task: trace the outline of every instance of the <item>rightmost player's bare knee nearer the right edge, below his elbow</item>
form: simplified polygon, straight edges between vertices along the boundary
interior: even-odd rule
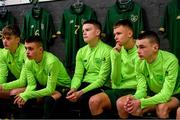
[[[168,106],[165,103],[157,105],[156,113],[159,118],[168,118],[169,117]]]

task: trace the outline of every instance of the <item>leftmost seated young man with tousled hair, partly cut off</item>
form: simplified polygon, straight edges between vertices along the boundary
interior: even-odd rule
[[[24,91],[24,88],[10,90],[7,84],[20,79],[20,73],[26,59],[25,48],[20,43],[20,30],[17,26],[8,25],[3,28],[2,42],[4,48],[0,55],[0,109],[2,110],[0,118],[6,117],[5,114],[12,106],[10,96]]]

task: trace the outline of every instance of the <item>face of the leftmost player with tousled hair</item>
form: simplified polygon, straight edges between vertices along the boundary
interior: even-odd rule
[[[2,38],[4,48],[13,50],[19,44],[19,38],[15,35],[5,35]]]

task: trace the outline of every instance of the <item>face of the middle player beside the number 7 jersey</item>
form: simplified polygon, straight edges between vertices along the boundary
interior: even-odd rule
[[[90,43],[93,40],[99,38],[100,30],[93,24],[84,24],[83,25],[83,38],[84,42]]]

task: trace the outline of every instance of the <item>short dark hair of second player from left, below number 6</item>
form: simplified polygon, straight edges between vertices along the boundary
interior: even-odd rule
[[[42,38],[40,36],[30,36],[25,40],[26,43],[38,43],[42,47]]]

